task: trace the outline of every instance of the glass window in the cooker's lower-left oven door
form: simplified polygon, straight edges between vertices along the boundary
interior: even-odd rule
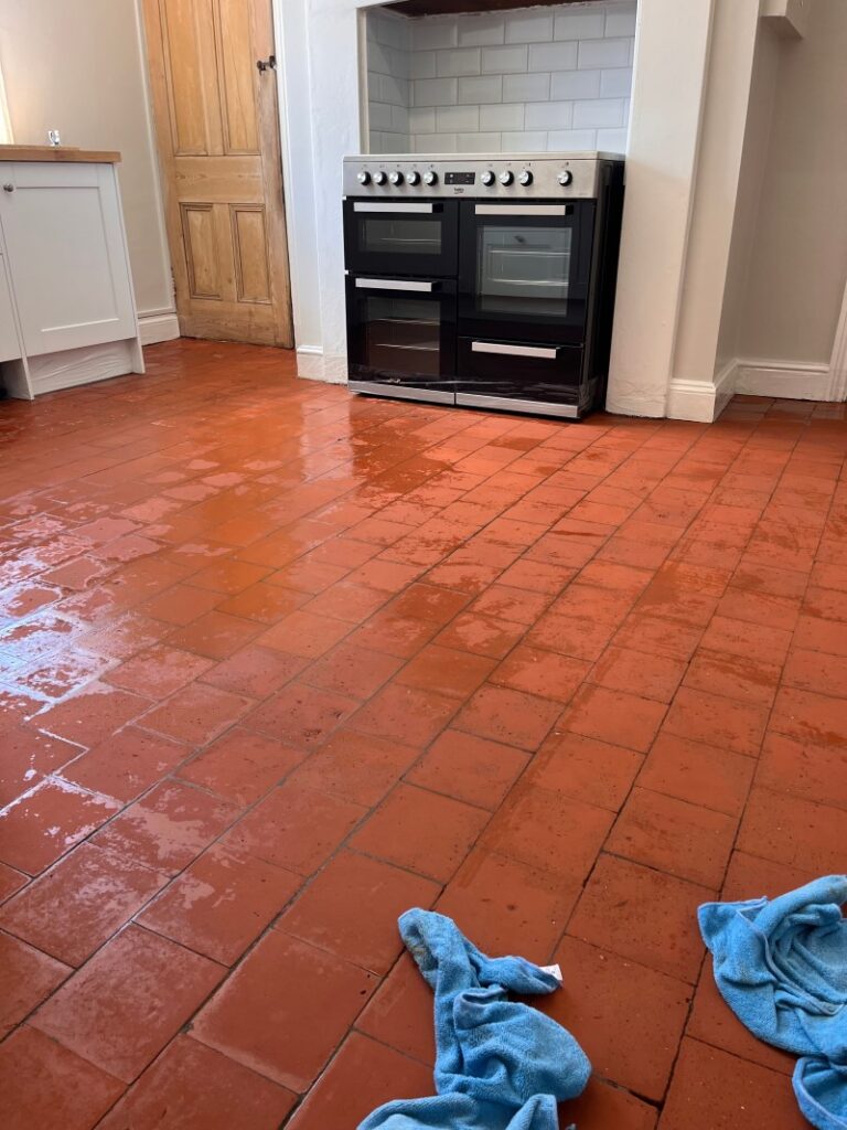
[[[391,296],[365,299],[367,364],[390,373],[438,376],[440,304]]]

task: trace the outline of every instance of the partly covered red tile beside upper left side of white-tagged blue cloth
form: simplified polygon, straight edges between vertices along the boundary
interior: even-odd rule
[[[400,956],[356,1027],[421,1063],[435,1063],[433,990],[408,953]]]

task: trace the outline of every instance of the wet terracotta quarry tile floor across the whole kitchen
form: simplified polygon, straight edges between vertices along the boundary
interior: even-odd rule
[[[695,912],[844,870],[844,406],[567,425],[148,360],[0,406],[5,1130],[429,1093],[416,904],[561,963],[562,1124],[801,1130]]]

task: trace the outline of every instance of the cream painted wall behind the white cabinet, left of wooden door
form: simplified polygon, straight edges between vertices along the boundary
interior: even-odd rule
[[[0,66],[15,140],[119,149],[126,236],[146,340],[176,328],[142,25],[137,0],[2,0]]]

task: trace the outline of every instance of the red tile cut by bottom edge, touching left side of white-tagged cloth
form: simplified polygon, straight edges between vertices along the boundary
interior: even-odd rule
[[[288,1125],[290,1130],[356,1130],[383,1103],[431,1093],[430,1068],[352,1032]]]

